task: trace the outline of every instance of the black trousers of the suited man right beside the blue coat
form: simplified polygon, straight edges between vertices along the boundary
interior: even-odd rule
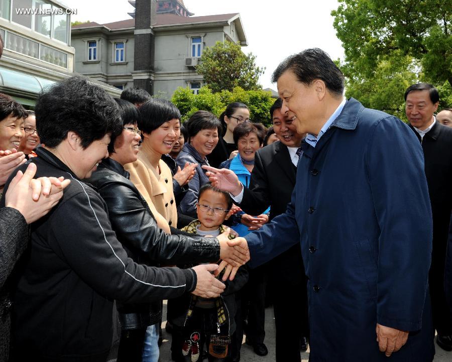
[[[304,282],[272,283],[276,327],[276,362],[300,362],[302,337],[309,337],[307,291]]]

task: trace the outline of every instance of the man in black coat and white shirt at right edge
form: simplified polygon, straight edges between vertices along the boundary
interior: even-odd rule
[[[452,211],[452,129],[433,115],[439,94],[428,83],[411,85],[405,92],[405,113],[424,151],[425,175],[433,215],[433,249],[429,286],[436,343],[452,350],[452,321],[444,294],[444,263]]]

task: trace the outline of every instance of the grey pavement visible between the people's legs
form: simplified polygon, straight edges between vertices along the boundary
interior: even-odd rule
[[[163,302],[163,320],[166,323],[166,300]],[[163,324],[164,325],[164,324]],[[273,316],[273,308],[265,310],[265,344],[268,347],[268,354],[264,357],[258,356],[253,352],[253,348],[245,344],[245,338],[241,349],[241,362],[266,361],[273,362],[275,358],[275,318]],[[172,362],[171,359],[171,335],[163,329],[163,344],[160,347],[160,362]],[[439,348],[435,343],[436,355],[434,362],[452,362],[452,352],[446,352]],[[301,353],[302,362],[308,362],[309,349]],[[388,361],[391,359],[389,358]],[[207,359],[205,360],[207,361]]]

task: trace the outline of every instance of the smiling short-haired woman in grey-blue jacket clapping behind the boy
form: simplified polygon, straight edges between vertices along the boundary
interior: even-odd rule
[[[206,156],[218,143],[221,123],[214,114],[206,110],[198,110],[187,120],[185,127],[188,132],[188,143],[184,144],[176,162],[181,168],[186,162],[195,163],[197,166],[194,177],[188,182],[188,192],[180,203],[180,209],[182,213],[196,218],[199,189],[209,182],[201,166],[209,166]]]

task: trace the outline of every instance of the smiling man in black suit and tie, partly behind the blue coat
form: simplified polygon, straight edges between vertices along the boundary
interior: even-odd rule
[[[282,100],[278,98],[270,108],[273,129],[280,141],[256,153],[250,187],[244,188],[243,197],[242,194],[234,197],[236,203],[250,215],[260,215],[270,206],[269,220],[284,213],[290,202],[295,186],[297,150],[304,137],[296,132],[293,119],[281,113],[281,106]],[[294,244],[269,265],[277,362],[300,362],[300,344],[303,350],[307,348],[306,277],[300,245]]]

